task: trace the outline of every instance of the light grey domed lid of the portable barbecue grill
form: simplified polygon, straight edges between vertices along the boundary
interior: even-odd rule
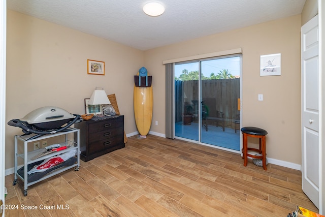
[[[55,106],[45,106],[29,112],[20,120],[33,124],[71,118],[74,118],[74,115],[64,109]]]

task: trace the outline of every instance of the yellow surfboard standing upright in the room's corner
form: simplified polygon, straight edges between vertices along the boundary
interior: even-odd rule
[[[137,73],[139,75],[139,73]],[[149,73],[148,73],[149,75]],[[136,125],[141,136],[149,133],[152,121],[153,95],[152,86],[137,87],[134,85],[133,105]]]

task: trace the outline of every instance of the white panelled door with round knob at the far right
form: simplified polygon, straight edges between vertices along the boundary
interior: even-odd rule
[[[319,208],[318,15],[301,27],[302,189]]]

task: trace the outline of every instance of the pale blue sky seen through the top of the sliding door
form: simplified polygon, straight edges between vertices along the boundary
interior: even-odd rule
[[[240,57],[228,57],[220,59],[204,60],[202,63],[202,73],[206,77],[210,77],[211,73],[217,75],[219,71],[228,69],[233,76],[240,76]],[[199,63],[187,63],[175,65],[175,77],[179,77],[182,71],[186,69],[188,72],[199,71]]]

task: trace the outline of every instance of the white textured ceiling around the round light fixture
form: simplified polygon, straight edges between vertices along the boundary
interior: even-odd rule
[[[148,50],[300,14],[306,0],[8,0],[7,8]],[[142,7],[159,2],[158,17]]]

